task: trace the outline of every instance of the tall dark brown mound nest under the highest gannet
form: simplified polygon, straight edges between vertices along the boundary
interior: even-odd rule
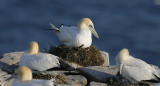
[[[81,47],[66,47],[64,45],[54,47],[52,46],[49,53],[54,54],[63,60],[77,63],[78,65],[100,66],[104,63],[101,53],[95,46],[88,48]]]

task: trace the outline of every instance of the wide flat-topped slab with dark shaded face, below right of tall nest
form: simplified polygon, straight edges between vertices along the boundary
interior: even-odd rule
[[[115,77],[118,72],[116,66],[90,66],[79,68],[78,70],[87,80],[96,82],[107,82],[111,77]]]

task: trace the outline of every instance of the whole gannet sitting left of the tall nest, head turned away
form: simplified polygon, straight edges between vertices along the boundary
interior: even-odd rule
[[[59,67],[59,60],[57,56],[40,53],[37,42],[29,44],[29,50],[25,51],[20,58],[19,65],[27,66],[32,70],[44,71],[53,67]]]

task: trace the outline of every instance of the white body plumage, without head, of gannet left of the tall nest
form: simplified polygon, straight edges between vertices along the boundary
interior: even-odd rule
[[[20,66],[27,66],[30,69],[43,71],[53,67],[59,67],[59,60],[57,56],[38,53],[36,55],[27,55],[26,53],[20,59]]]

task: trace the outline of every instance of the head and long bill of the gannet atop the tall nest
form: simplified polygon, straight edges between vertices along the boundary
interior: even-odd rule
[[[78,22],[77,26],[79,27],[79,29],[89,29],[99,39],[99,36],[94,29],[93,22],[89,18],[82,18]]]

